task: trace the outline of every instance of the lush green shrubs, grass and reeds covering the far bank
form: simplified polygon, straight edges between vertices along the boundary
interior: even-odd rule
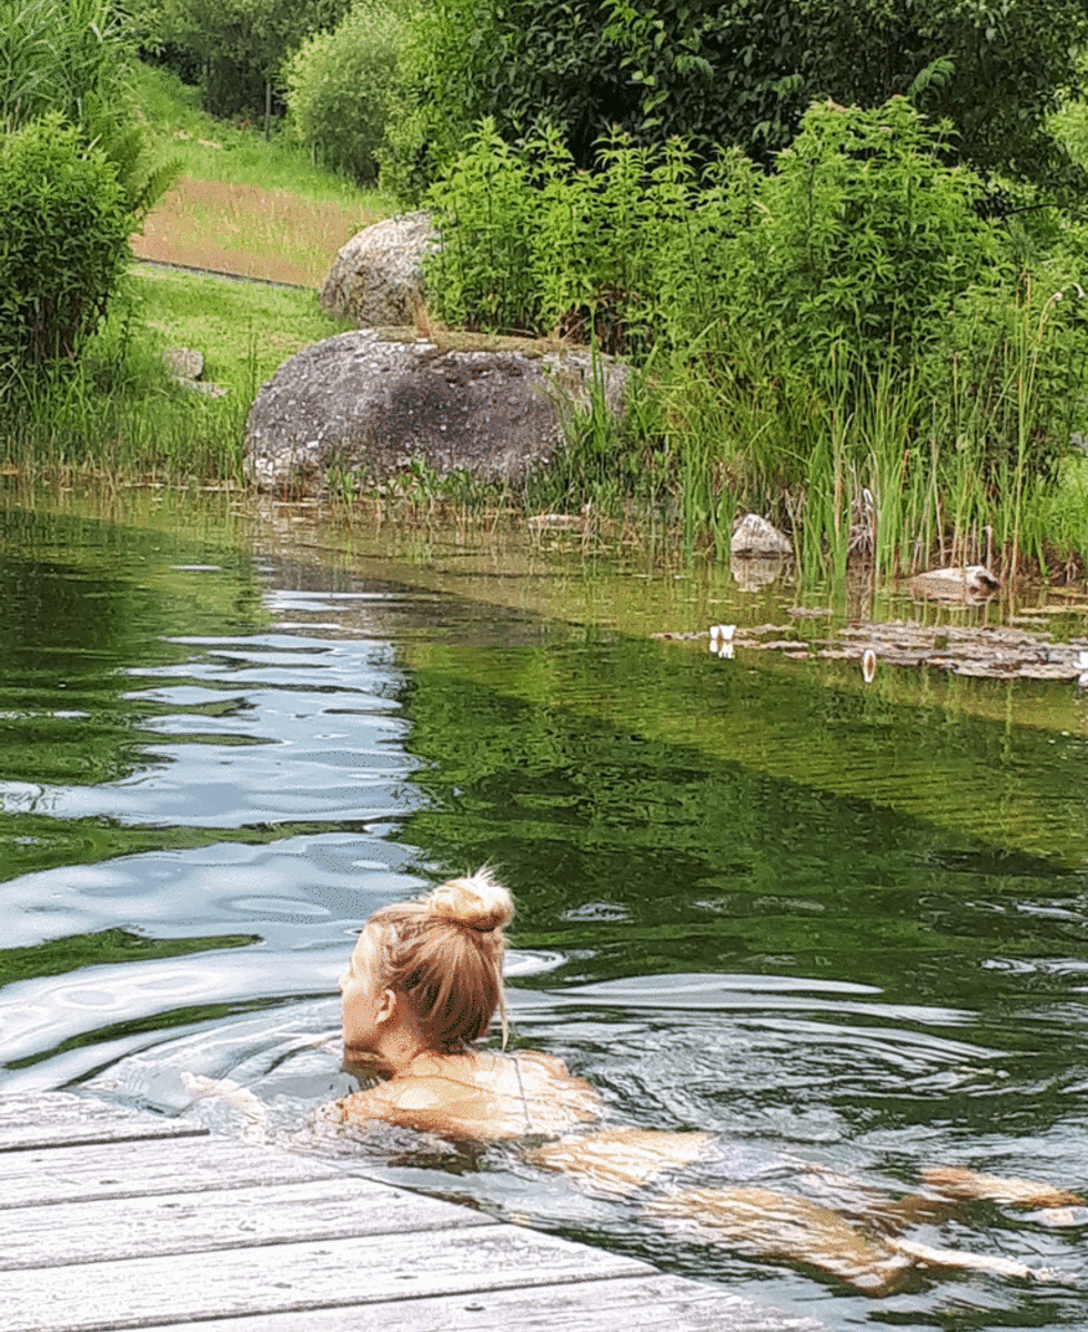
[[[332,329],[300,305],[269,337],[250,306],[248,350],[224,334],[232,396],[194,401],[125,274],[165,157],[189,176],[246,157],[253,188],[314,192],[309,176],[328,200],[380,184],[372,216],[430,208],[427,318],[629,360],[623,420],[582,413],[547,473],[490,502],[720,553],[751,509],[820,577],[1083,573],[1076,0],[779,5],[774,43],[750,0],[573,0],[562,21],[538,0],[4,8],[21,69],[0,88],[0,208],[24,237],[0,272],[13,464],[240,480],[266,364]],[[156,137],[178,79],[233,121]]]

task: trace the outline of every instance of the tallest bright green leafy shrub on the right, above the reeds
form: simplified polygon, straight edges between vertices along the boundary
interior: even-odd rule
[[[948,135],[902,97],[872,112],[826,103],[759,181],[740,298],[810,373],[835,344],[911,364],[995,272],[981,184],[946,165]]]

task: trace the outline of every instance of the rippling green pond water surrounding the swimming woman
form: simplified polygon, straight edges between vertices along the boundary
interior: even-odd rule
[[[931,1163],[1088,1189],[1075,686],[723,661],[651,631],[796,591],[308,514],[0,505],[0,1088],[241,1132],[192,1098],[229,1076],[292,1134],[353,1086],[329,1038],[361,923],[487,862],[518,902],[514,1044],[613,1122],[894,1193]],[[1088,1328],[1084,1224],[972,1207],[920,1237],[1047,1271],[870,1300],[502,1152],[297,1146],[830,1328]]]

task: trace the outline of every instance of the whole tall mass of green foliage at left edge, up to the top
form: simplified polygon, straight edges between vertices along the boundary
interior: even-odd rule
[[[169,172],[131,99],[111,0],[0,0],[0,369],[72,360]]]

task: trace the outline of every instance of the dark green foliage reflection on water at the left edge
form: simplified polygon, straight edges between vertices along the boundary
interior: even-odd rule
[[[49,791],[123,781],[156,761],[161,705],[133,669],[174,665],[178,635],[262,618],[248,559],[193,578],[206,551],[173,534],[79,515],[0,507],[0,879],[164,844],[189,830],[51,817]],[[221,558],[221,557],[220,557]]]

